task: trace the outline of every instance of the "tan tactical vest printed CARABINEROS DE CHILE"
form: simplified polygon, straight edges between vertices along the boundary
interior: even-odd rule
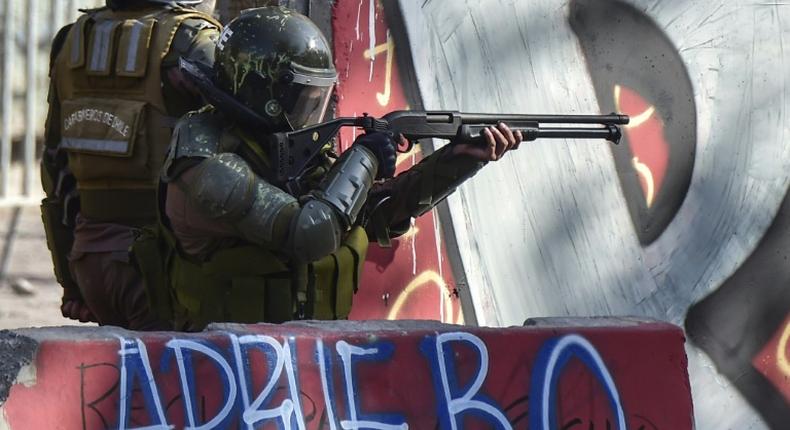
[[[77,178],[83,216],[156,221],[159,170],[175,118],[162,96],[161,65],[189,9],[97,9],[72,26],[55,61],[60,147]]]

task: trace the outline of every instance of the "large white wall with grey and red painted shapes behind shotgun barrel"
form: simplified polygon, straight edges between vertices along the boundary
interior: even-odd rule
[[[522,145],[449,199],[476,320],[685,322],[697,427],[785,428],[790,8],[398,3],[428,109],[632,118],[619,146]]]

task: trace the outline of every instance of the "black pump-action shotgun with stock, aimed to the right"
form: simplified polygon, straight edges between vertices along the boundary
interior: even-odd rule
[[[514,132],[521,131],[524,141],[548,139],[606,139],[620,142],[620,125],[628,124],[628,116],[610,115],[518,115],[478,114],[455,111],[390,112],[381,118],[364,114],[360,117],[336,118],[301,130],[271,135],[272,158],[277,180],[290,191],[310,161],[342,127],[359,127],[369,132],[402,134],[409,148],[417,139],[449,139],[451,144],[483,144],[483,129],[504,122]],[[548,126],[545,126],[547,124]]]

